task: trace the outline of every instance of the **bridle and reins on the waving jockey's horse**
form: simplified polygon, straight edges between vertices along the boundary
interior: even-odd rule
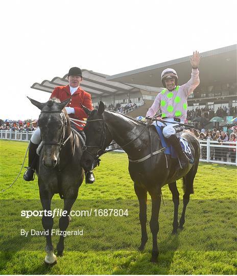
[[[103,117],[103,116],[102,116]],[[138,136],[136,136],[132,141],[126,143],[125,145],[121,146],[121,147],[117,147],[115,149],[109,149],[109,150],[105,150],[105,140],[106,140],[106,136],[105,136],[105,131],[106,131],[106,127],[111,135],[111,132],[108,128],[108,125],[106,124],[105,122],[105,119],[95,119],[95,120],[87,120],[86,122],[95,122],[95,121],[101,121],[103,122],[103,135],[101,137],[101,142],[100,142],[100,146],[83,146],[82,148],[82,151],[84,152],[87,152],[90,156],[92,156],[95,160],[98,159],[102,154],[106,153],[106,152],[109,152],[109,151],[113,151],[113,150],[116,150],[116,149],[120,149],[120,148],[124,148],[124,147],[127,147],[128,145],[130,145],[132,142],[134,142],[141,134],[143,134],[143,132],[148,128],[148,124],[144,127],[143,130],[141,130],[141,132],[138,134]],[[112,137],[112,135],[111,135]],[[112,146],[116,143],[112,143],[110,144],[109,146]],[[99,148],[99,150],[97,151],[96,155],[93,155],[92,153],[90,153],[87,149],[88,148]],[[101,153],[99,153],[101,151]]]

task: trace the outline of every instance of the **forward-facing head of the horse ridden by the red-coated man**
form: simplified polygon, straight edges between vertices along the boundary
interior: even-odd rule
[[[70,99],[60,102],[58,99],[53,98],[46,103],[40,103],[30,98],[29,100],[41,110],[38,126],[44,145],[43,165],[47,168],[53,168],[57,164],[66,126],[67,124],[69,125],[69,117],[63,108]]]

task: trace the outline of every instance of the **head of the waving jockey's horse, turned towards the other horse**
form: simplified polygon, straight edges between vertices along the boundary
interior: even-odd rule
[[[103,102],[100,102],[98,110],[90,111],[85,108],[84,110],[89,116],[84,127],[86,145],[83,147],[81,166],[88,171],[97,164],[98,158],[105,152],[106,147],[112,141],[112,137],[103,116],[105,110]]]

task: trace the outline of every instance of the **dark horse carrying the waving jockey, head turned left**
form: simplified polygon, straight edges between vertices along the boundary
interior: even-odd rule
[[[94,159],[106,152],[106,147],[114,140],[120,145],[129,158],[129,173],[134,182],[134,190],[139,201],[139,219],[141,224],[141,244],[139,250],[143,250],[147,240],[147,192],[152,200],[152,215],[150,228],[152,232],[153,248],[152,262],[158,257],[157,234],[159,231],[159,209],[161,201],[161,187],[168,184],[172,192],[174,202],[173,234],[178,227],[183,228],[184,215],[189,195],[194,193],[194,177],[199,163],[200,148],[196,137],[186,131],[182,136],[191,147],[194,164],[188,164],[185,168],[177,170],[177,160],[165,155],[159,136],[153,125],[146,125],[124,116],[123,114],[104,111],[105,106],[100,102],[98,110],[92,112],[84,108],[89,114],[84,132],[86,134],[86,146],[83,149],[81,164],[85,170],[91,169]],[[183,211],[178,222],[179,192],[176,180],[183,178]]]

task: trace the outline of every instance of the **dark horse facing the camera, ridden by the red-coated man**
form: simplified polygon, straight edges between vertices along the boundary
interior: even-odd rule
[[[41,110],[38,125],[43,147],[36,169],[41,204],[43,210],[50,211],[52,197],[59,193],[64,200],[65,211],[64,216],[59,219],[59,228],[60,231],[66,231],[70,210],[77,199],[78,189],[84,178],[84,170],[80,165],[82,156],[80,137],[77,131],[71,129],[69,117],[64,109],[70,99],[62,103],[55,98],[46,103],[39,103],[32,99],[30,101]],[[45,233],[49,233],[45,235],[47,255],[44,259],[48,264],[57,261],[51,238],[53,223],[52,216],[42,217]],[[58,256],[62,256],[63,249],[64,236],[60,235],[57,244]]]

